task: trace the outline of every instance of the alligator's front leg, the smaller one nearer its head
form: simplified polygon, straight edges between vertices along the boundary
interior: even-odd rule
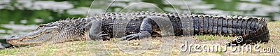
[[[105,38],[104,36],[108,36],[108,34],[102,34],[102,21],[100,20],[93,20],[90,22],[90,32],[89,32],[89,36],[92,40],[99,40],[99,39],[103,39],[103,40],[109,40],[109,38]]]

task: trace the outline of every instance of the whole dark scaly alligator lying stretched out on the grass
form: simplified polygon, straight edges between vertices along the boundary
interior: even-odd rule
[[[109,40],[114,37],[132,40],[158,35],[160,33],[157,31],[161,31],[162,27],[174,29],[171,36],[212,34],[240,36],[244,40],[241,43],[269,41],[267,20],[264,18],[160,12],[104,13],[85,18],[67,18],[41,24],[35,31],[21,36],[10,36],[6,40],[12,45],[85,41],[87,38]]]

